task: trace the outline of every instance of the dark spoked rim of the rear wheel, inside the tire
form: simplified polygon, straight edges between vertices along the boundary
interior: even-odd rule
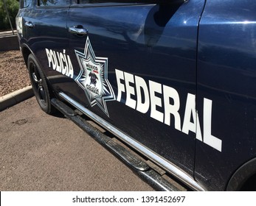
[[[37,94],[38,100],[46,105],[46,92],[43,84],[43,80],[41,78],[41,75],[38,72],[38,69],[34,63],[31,65],[31,76],[32,76],[32,82],[35,88],[35,92]]]

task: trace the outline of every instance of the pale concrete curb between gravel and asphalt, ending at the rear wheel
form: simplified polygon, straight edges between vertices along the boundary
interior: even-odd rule
[[[20,90],[16,90],[12,93],[0,97],[0,111],[5,110],[8,107],[11,107],[19,102],[29,99],[34,96],[32,86],[27,86]]]

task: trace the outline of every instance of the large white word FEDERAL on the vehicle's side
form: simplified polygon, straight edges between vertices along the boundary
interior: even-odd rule
[[[148,80],[147,84],[142,77],[118,69],[115,71],[118,102],[121,102],[122,93],[124,93],[126,97],[123,96],[122,102],[128,107],[136,109],[140,113],[148,113],[150,110],[151,118],[172,126],[186,135],[193,132],[198,141],[207,143],[221,152],[222,141],[212,135],[212,100],[204,98],[204,134],[202,135],[198,111],[196,110],[196,95],[187,93],[181,130],[180,98],[176,89],[151,80]],[[134,96],[133,99],[132,96]],[[172,116],[173,122],[171,122]]]

